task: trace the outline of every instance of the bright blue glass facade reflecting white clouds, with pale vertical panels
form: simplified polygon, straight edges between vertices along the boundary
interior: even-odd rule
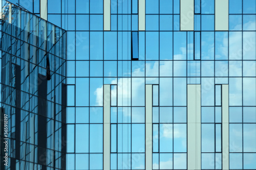
[[[67,169],[256,169],[255,0],[12,0],[67,30]]]

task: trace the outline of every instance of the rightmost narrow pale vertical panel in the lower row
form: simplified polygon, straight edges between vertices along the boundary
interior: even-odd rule
[[[222,169],[229,169],[228,84],[222,85]]]

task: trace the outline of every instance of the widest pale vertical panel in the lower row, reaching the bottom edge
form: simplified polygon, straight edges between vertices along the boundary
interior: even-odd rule
[[[187,169],[201,169],[201,85],[187,85]]]

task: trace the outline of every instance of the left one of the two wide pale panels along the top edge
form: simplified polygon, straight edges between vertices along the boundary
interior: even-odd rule
[[[194,0],[180,0],[180,31],[194,31]]]

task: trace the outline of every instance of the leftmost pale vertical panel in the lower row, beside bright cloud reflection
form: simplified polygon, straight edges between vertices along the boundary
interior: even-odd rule
[[[110,170],[110,85],[103,88],[103,169]]]

